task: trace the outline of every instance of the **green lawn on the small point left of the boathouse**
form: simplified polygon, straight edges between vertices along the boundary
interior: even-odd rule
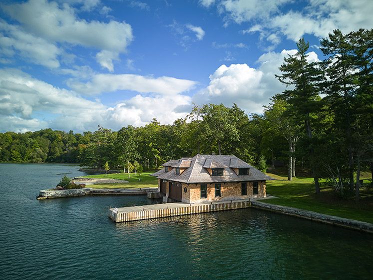
[[[150,176],[153,172],[143,172],[141,176],[139,174],[130,173],[115,173],[115,174],[99,174],[99,175],[88,175],[85,178],[112,178],[119,180],[126,180],[128,183],[105,183],[105,184],[92,184],[89,187],[93,188],[140,188],[140,187],[157,187],[158,179],[157,177]],[[139,178],[141,179],[139,181]]]

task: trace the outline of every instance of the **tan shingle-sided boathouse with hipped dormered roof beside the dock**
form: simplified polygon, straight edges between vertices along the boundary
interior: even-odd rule
[[[266,197],[266,180],[273,179],[235,155],[197,154],[162,166],[152,175],[164,202]]]

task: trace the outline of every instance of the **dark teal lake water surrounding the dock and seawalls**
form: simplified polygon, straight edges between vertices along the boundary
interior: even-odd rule
[[[373,234],[257,209],[128,223],[146,196],[36,200],[64,164],[0,164],[0,279],[372,279]]]

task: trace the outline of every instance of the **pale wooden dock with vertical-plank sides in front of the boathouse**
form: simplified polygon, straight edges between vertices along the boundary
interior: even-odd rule
[[[249,207],[251,207],[250,199],[191,204],[174,202],[122,208],[110,208],[109,217],[115,222],[124,222]]]

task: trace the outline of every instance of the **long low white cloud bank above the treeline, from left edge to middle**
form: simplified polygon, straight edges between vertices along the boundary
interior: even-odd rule
[[[144,125],[156,117],[172,123],[186,115],[177,108],[190,105],[191,97],[137,94],[108,107],[74,91],[57,88],[16,69],[0,69],[0,131],[37,130],[45,127],[75,131]],[[47,115],[47,119],[37,116]]]

